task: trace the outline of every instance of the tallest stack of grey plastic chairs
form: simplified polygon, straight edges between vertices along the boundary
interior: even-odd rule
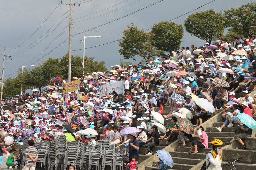
[[[55,166],[55,170],[57,170],[58,165],[64,165],[66,150],[67,143],[65,135],[58,135],[54,141],[50,141],[48,152],[48,170],[52,170],[53,166]]]

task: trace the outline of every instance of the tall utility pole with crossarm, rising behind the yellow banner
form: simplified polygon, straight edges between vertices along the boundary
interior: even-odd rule
[[[61,4],[62,3],[61,1]],[[70,14],[69,14],[69,39],[68,39],[68,81],[70,82],[71,79],[71,28],[72,28],[72,6],[76,6],[76,3],[74,5],[72,5],[72,0],[70,0],[70,4],[66,4],[66,5],[70,5]],[[78,6],[76,7],[80,7],[80,4],[78,4]]]

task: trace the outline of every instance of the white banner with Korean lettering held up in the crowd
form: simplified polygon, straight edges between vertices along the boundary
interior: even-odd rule
[[[110,83],[110,84],[105,84],[105,85],[101,85],[101,95],[102,96],[106,96],[105,94],[105,88],[108,87],[107,93],[111,93],[113,91],[116,92],[116,94],[121,94],[124,91],[124,85],[122,81],[119,82],[114,82],[114,83]]]

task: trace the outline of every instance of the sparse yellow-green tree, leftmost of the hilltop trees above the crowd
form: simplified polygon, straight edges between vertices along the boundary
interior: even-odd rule
[[[131,27],[127,25],[127,29],[123,32],[123,39],[119,40],[119,46],[122,47],[118,51],[123,55],[124,59],[135,59],[139,55],[144,60],[149,61],[154,56],[165,53],[163,50],[157,50],[150,42],[150,34],[143,30],[139,30],[131,23]]]

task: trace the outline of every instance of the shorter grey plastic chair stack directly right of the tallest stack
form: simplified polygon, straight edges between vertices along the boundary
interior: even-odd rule
[[[68,165],[76,166],[77,158],[81,150],[82,150],[81,142],[74,143],[74,145],[71,145],[71,146],[68,145],[68,149],[67,151],[65,151],[63,169],[66,169]]]

